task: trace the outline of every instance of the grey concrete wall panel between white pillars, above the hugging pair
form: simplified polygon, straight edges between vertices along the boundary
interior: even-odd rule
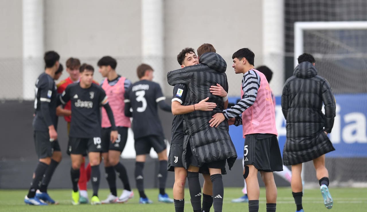
[[[242,76],[234,73],[232,54],[249,47],[255,52],[255,65],[262,63],[262,1],[172,0],[164,7],[166,70],[180,67],[177,54],[183,48],[197,50],[211,43],[227,62],[229,95],[240,96]]]

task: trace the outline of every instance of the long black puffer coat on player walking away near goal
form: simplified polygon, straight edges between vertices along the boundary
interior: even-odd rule
[[[321,112],[323,103],[325,114]],[[307,162],[335,150],[324,133],[330,133],[334,125],[334,95],[312,63],[302,62],[295,67],[283,87],[281,109],[287,121],[284,165]]]

